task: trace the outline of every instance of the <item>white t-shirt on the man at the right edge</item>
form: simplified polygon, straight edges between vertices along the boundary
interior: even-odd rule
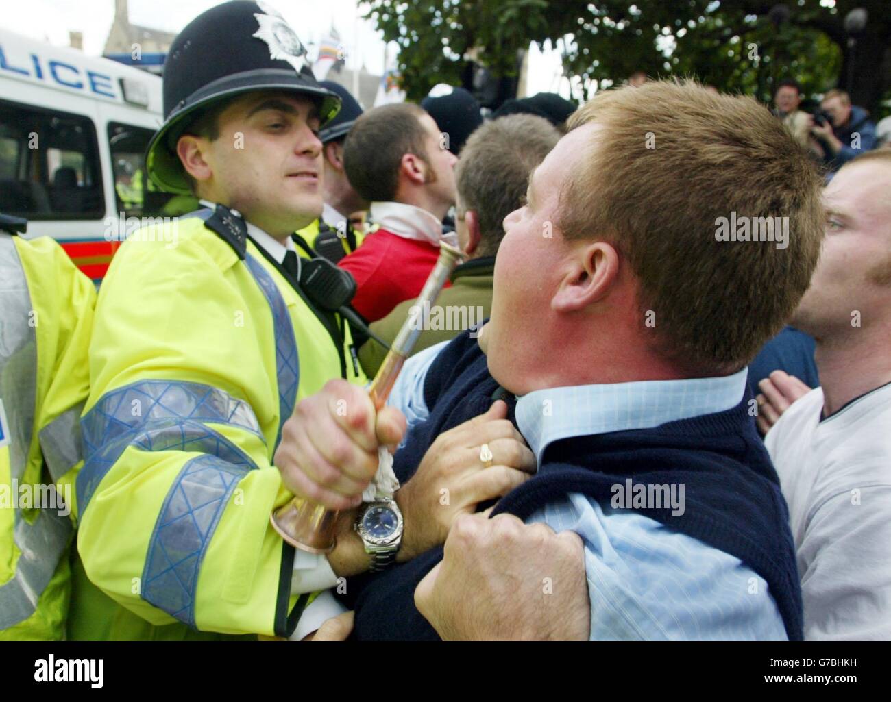
[[[765,445],[789,503],[805,640],[891,640],[891,385],[820,420],[816,388]]]

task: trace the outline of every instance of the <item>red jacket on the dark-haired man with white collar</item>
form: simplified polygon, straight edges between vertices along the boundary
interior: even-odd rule
[[[338,265],[356,278],[358,290],[352,305],[366,322],[376,322],[403,300],[421,294],[438,257],[438,247],[428,241],[405,239],[379,229]]]

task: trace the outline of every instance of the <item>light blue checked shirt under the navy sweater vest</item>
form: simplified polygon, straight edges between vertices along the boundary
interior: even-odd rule
[[[447,343],[447,342],[446,342]],[[405,363],[390,404],[409,426],[426,420],[427,370],[445,344]],[[536,458],[561,438],[657,427],[740,403],[747,371],[724,378],[536,390],[517,401],[519,430]],[[785,641],[767,583],[740,559],[654,519],[569,494],[527,518],[584,541],[591,639]]]

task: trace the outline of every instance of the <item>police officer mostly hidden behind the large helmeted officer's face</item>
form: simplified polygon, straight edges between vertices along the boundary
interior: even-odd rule
[[[356,250],[366,232],[356,231],[349,221],[355,212],[368,209],[368,202],[350,184],[343,161],[343,143],[349,130],[362,115],[362,108],[356,98],[345,88],[331,80],[323,80],[321,86],[340,97],[340,111],[337,116],[319,131],[323,144],[324,164],[324,205],[322,216],[296,234],[298,246],[305,255],[315,253],[337,263],[342,257]]]

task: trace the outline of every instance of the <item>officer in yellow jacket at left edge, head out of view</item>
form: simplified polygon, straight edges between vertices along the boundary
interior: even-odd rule
[[[60,640],[95,289],[0,215],[0,640]]]

